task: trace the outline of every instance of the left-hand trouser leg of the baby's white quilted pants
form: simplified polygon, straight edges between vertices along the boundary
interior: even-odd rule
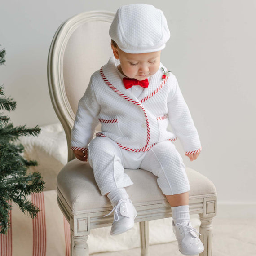
[[[88,147],[88,161],[102,195],[133,184],[124,173],[122,154],[115,141],[107,137],[93,139]]]

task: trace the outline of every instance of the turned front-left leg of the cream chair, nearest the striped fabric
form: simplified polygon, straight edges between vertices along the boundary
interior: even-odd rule
[[[71,256],[89,256],[88,235],[74,236],[71,230]]]

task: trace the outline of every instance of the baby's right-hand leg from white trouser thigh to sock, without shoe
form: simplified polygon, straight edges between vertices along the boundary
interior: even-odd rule
[[[144,157],[141,168],[158,176],[158,185],[172,206],[174,222],[190,221],[189,180],[182,158],[173,143],[163,141],[151,148]]]

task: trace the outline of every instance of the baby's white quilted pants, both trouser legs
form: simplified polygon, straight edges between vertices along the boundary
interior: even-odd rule
[[[146,152],[130,152],[110,138],[96,137],[89,144],[88,161],[102,195],[133,184],[124,168],[152,172],[165,195],[190,190],[185,165],[171,141],[159,142]]]

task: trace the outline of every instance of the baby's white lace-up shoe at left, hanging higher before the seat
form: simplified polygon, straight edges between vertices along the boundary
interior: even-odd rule
[[[110,215],[113,211],[115,212],[114,221],[110,231],[111,235],[118,235],[132,229],[137,212],[130,199],[120,199],[113,210],[105,216]]]

